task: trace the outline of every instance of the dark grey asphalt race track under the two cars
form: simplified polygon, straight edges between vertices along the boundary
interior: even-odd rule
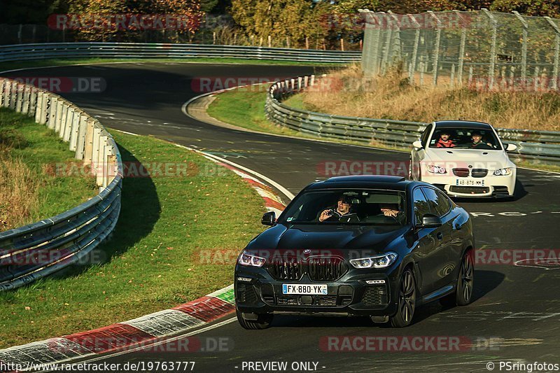
[[[62,96],[96,115],[106,127],[151,134],[224,157],[272,178],[294,194],[322,177],[321,162],[408,160],[405,153],[225,129],[198,122],[181,112],[185,101],[200,94],[191,86],[195,77],[287,77],[314,71],[311,66],[127,63],[4,75],[102,77],[106,80],[103,93]],[[493,253],[502,249],[560,251],[560,174],[519,169],[518,181],[513,201],[458,202],[473,214],[477,248],[491,249]],[[194,361],[194,372],[272,371],[262,370],[262,366],[249,369],[247,363],[255,361],[284,361],[288,371],[292,363],[311,362],[307,370],[320,372],[488,372],[486,363],[490,361],[496,363],[495,371],[499,371],[500,360],[560,363],[560,263],[486,263],[484,258],[477,260],[472,304],[444,309],[435,302],[419,309],[409,328],[372,325],[368,318],[284,316],[276,317],[272,328],[249,331],[233,321],[207,327],[193,336],[207,346],[207,351],[135,352],[103,360]],[[459,351],[347,352],[332,351],[333,347],[325,344],[329,336],[460,337],[464,343]],[[227,351],[211,348],[209,343],[214,338],[225,340],[227,348],[223,350]],[[316,367],[313,363],[317,363]],[[294,367],[306,370],[304,365]]]

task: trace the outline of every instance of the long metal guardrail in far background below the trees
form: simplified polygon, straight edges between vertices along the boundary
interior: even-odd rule
[[[361,52],[165,43],[41,43],[0,46],[0,62],[49,58],[177,58],[220,57],[299,62],[359,62]]]

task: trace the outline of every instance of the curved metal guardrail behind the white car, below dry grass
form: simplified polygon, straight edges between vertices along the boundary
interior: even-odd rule
[[[298,76],[274,83],[268,91],[265,112],[269,120],[325,139],[344,139],[381,144],[400,150],[410,150],[427,123],[372,118],[346,117],[300,110],[282,104],[282,100],[304,88],[316,85],[318,78]],[[560,165],[560,132],[496,128],[500,138],[517,145],[510,153],[512,160],[527,160],[533,164]]]

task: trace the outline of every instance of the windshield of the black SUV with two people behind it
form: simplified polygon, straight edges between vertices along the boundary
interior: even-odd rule
[[[404,192],[317,190],[298,196],[282,213],[283,224],[405,225]]]

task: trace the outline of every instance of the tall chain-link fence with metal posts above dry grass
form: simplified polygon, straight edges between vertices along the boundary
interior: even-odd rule
[[[400,66],[416,85],[559,90],[560,20],[488,10],[360,11],[367,75]]]

